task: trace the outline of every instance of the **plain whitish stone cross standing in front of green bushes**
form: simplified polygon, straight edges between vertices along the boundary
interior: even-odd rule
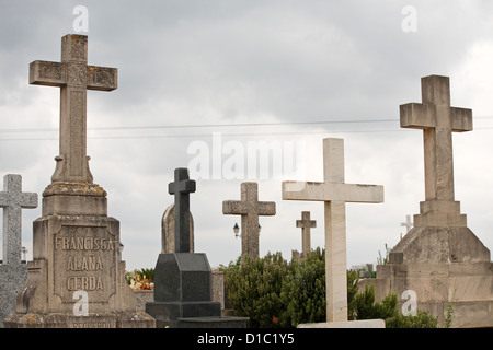
[[[346,322],[346,202],[382,202],[383,187],[344,183],[342,139],[323,140],[323,183],[283,182],[283,199],[324,202],[326,320]]]

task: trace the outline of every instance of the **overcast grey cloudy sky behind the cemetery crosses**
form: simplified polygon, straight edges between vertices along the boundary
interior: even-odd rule
[[[88,32],[77,32],[77,5]],[[473,110],[474,130],[454,135],[456,200],[493,248],[492,1],[0,0],[0,175],[21,174],[23,190],[39,194],[23,210],[28,258],[59,125],[59,89],[30,85],[28,65],[59,61],[70,33],[89,36],[90,65],[118,69],[117,90],[88,93],[88,154],[128,270],[154,267],[173,171],[206,151],[209,176],[191,168],[191,209],[195,252],[211,267],[241,254],[240,217],[223,215],[222,200],[240,199],[244,180],[277,206],[260,219],[262,256],[301,249],[306,210],[312,247],[323,246],[323,203],[283,201],[280,182],[322,180],[330,137],[344,139],[346,183],[385,186],[385,203],[346,206],[348,267],[376,262],[424,200],[423,135],[399,127],[399,105],[421,102],[429,74],[450,77],[452,106]],[[231,172],[228,152],[252,159],[262,141],[280,147],[267,171],[280,162],[282,174],[249,176],[248,162]]]

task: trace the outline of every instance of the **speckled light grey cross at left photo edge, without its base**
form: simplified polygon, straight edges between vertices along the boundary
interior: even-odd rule
[[[36,208],[37,194],[22,191],[21,175],[3,176],[0,208],[3,208],[3,264],[21,264],[22,209]]]

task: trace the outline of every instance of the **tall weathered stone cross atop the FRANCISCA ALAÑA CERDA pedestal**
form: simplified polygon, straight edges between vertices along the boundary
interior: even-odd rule
[[[92,183],[87,155],[87,90],[117,88],[117,69],[88,66],[88,37],[61,38],[61,62],[34,61],[30,84],[60,88],[60,154],[51,182]]]

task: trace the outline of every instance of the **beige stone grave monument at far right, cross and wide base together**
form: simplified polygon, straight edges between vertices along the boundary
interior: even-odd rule
[[[444,326],[454,300],[452,327],[493,326],[493,262],[490,250],[467,226],[455,199],[452,132],[472,130],[472,110],[450,106],[447,77],[422,78],[422,103],[400,106],[401,127],[423,129],[425,201],[414,228],[377,266],[376,299],[389,292],[416,293],[417,310],[426,310]],[[402,304],[405,301],[400,301]]]

